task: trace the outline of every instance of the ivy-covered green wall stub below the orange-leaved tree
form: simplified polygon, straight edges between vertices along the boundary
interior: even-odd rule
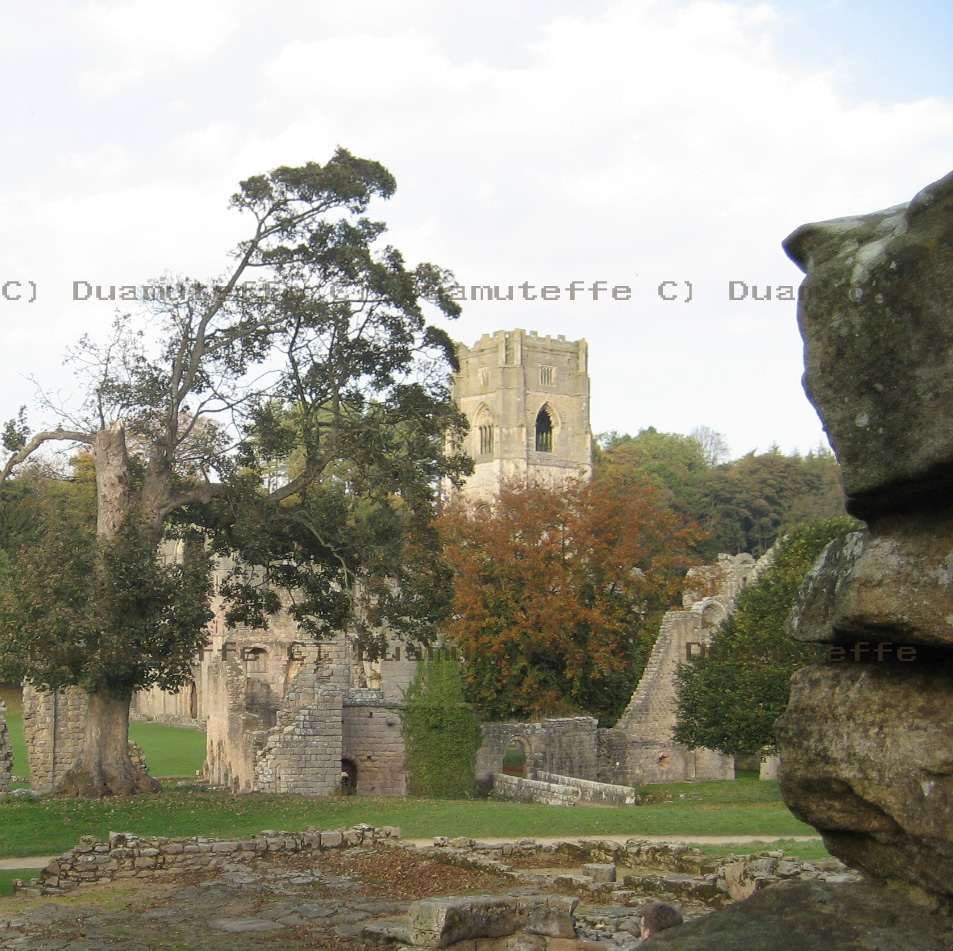
[[[404,695],[402,730],[407,748],[408,791],[431,799],[471,799],[482,736],[464,699],[458,660],[417,667]]]

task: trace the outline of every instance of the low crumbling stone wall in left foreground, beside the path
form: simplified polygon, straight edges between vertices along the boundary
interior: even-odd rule
[[[84,835],[79,845],[55,858],[29,885],[18,881],[17,894],[58,895],[80,885],[148,875],[217,868],[236,855],[252,858],[264,853],[317,852],[364,845],[381,839],[399,839],[395,826],[354,826],[322,832],[261,832],[248,839],[217,840],[201,837],[167,839],[110,832],[109,841]]]

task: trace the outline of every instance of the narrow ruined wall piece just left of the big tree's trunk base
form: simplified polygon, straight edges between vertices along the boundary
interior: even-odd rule
[[[86,695],[79,687],[61,692],[23,685],[23,732],[30,758],[30,788],[51,793],[73,768],[86,732]]]

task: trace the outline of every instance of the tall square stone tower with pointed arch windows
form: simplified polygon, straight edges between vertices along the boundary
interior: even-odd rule
[[[457,349],[457,405],[470,423],[476,471],[464,491],[492,498],[506,479],[553,483],[592,475],[588,345],[525,330]]]

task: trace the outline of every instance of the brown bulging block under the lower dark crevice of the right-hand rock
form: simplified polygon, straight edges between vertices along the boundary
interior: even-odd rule
[[[795,675],[778,721],[782,788],[848,864],[949,892],[953,670],[898,667],[829,664]]]

